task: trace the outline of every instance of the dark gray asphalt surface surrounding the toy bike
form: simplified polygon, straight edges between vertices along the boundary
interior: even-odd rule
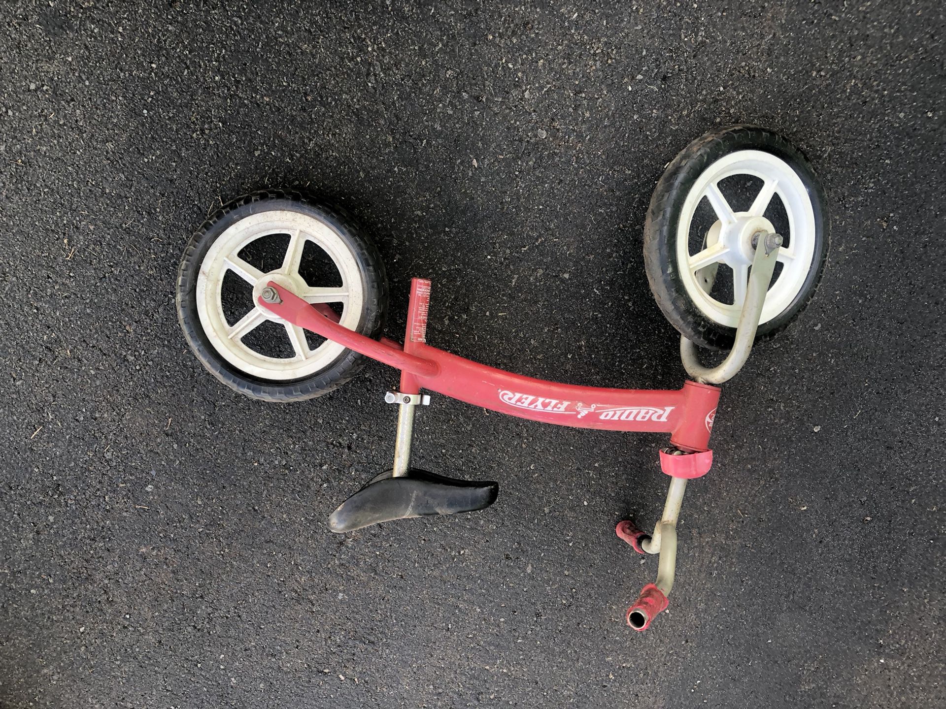
[[[3,3],[5,707],[942,707],[943,38],[933,0]],[[644,278],[664,164],[756,123],[824,182],[815,301],[727,385],[668,614],[657,436],[435,400],[417,464],[489,510],[336,536],[390,464],[393,373],[264,405],[178,328],[203,217],[306,185],[404,322],[535,376],[678,387]]]

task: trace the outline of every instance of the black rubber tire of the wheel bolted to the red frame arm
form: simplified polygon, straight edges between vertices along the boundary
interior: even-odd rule
[[[345,350],[323,370],[300,379],[260,379],[237,369],[217,353],[203,331],[197,310],[197,277],[203,257],[211,244],[240,219],[272,210],[288,210],[314,216],[342,237],[358,261],[361,285],[364,289],[364,304],[356,330],[367,337],[380,336],[388,309],[388,279],[375,245],[341,209],[326,207],[299,192],[277,190],[263,190],[234,199],[221,207],[194,233],[184,250],[178,271],[178,321],[181,323],[184,337],[187,338],[187,344],[201,364],[226,386],[264,401],[302,401],[341,387],[363,366],[362,355]]]

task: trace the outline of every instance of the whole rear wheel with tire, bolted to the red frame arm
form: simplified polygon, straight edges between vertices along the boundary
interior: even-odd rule
[[[204,222],[181,260],[178,320],[203,366],[266,401],[310,399],[348,381],[361,355],[260,307],[271,281],[350,330],[380,335],[388,282],[371,241],[340,210],[256,192]]]

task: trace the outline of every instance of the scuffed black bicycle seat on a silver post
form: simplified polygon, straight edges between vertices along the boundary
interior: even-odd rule
[[[406,476],[382,473],[339,505],[328,528],[346,532],[378,522],[482,510],[496,502],[499,483],[460,480],[412,468]]]

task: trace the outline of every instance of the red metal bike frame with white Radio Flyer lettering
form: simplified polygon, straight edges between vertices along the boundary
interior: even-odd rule
[[[671,434],[687,452],[708,449],[720,389],[688,381],[682,389],[606,389],[549,382],[504,372],[427,344],[430,282],[414,278],[404,345],[359,335],[338,322],[327,305],[310,305],[280,285],[269,284],[281,303],[258,299],[283,320],[338,342],[401,371],[400,391],[436,391],[493,411],[545,424],[611,431]],[[704,471],[705,472],[705,471]]]

